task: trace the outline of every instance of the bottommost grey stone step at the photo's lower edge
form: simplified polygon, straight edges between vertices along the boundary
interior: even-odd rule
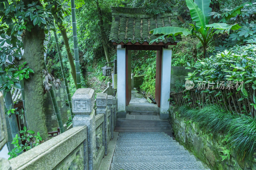
[[[174,170],[174,169],[204,169],[201,162],[125,162],[112,163],[111,170]]]

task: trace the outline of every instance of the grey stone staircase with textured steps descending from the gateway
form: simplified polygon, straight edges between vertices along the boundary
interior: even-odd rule
[[[164,132],[119,133],[111,170],[205,169]]]

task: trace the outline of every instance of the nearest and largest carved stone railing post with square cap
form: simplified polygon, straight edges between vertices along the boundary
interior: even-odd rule
[[[95,169],[96,159],[94,102],[94,90],[90,88],[77,89],[72,97],[72,111],[75,114],[73,127],[86,125],[88,130],[88,141],[84,141],[84,147],[87,146],[86,143],[88,142],[88,153],[84,153],[84,160],[86,159],[85,157],[88,158],[89,170]],[[84,149],[84,151],[86,151],[86,149]]]

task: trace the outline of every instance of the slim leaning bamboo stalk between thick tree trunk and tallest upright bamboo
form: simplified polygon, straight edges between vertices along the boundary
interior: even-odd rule
[[[54,23],[52,23],[52,25],[54,26]],[[59,46],[59,41],[58,41],[58,37],[57,37],[55,26],[54,26],[53,33],[54,33],[54,38],[55,38],[55,42],[56,42],[57,52],[58,52],[58,56],[59,56],[59,60],[60,60],[61,72],[62,72],[62,76],[63,76],[63,79],[64,79],[65,88],[66,88],[66,92],[67,92],[70,116],[71,116],[71,120],[73,121],[74,114],[72,112],[72,103],[71,103],[71,97],[70,97],[70,92],[69,92],[69,88],[68,88],[68,81],[67,81],[67,76],[66,76],[66,73],[65,73],[65,70],[64,70],[64,65],[63,65],[62,56],[61,56],[61,53],[60,53],[60,46]]]

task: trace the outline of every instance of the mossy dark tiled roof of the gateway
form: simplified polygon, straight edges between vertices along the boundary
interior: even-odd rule
[[[164,26],[178,26],[177,10],[160,14],[147,14],[143,8],[111,7],[112,25],[109,40],[112,42],[125,44],[131,41],[148,43],[156,39],[156,35],[149,33],[150,30]],[[180,41],[180,35],[176,36],[176,41]],[[159,40],[160,41],[160,40]],[[159,42],[157,41],[157,43]],[[172,37],[165,38],[164,43],[175,42]]]

